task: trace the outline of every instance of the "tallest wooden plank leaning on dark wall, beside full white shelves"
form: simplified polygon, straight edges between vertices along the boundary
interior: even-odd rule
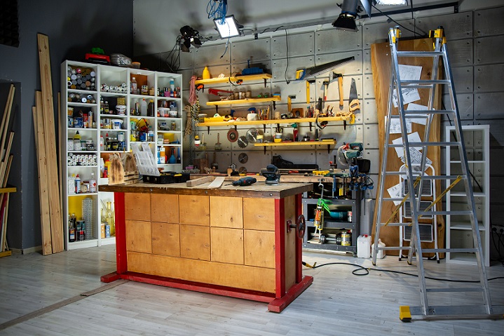
[[[50,234],[53,253],[63,250],[63,222],[60,208],[60,186],[57,177],[56,136],[54,123],[53,84],[50,74],[48,36],[37,34],[39,41],[39,65],[42,87],[43,129],[46,142],[47,182],[50,209]]]

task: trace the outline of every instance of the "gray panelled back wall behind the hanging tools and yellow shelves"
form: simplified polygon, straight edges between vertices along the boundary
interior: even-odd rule
[[[428,31],[442,25],[446,31],[449,52],[451,53],[451,65],[454,69],[454,79],[458,102],[461,109],[463,124],[490,124],[491,125],[491,220],[493,224],[503,225],[502,204],[500,189],[504,187],[503,173],[503,146],[504,146],[504,112],[502,104],[504,100],[504,85],[502,74],[504,66],[504,23],[500,18],[504,15],[504,7],[482,9],[475,11],[465,11],[462,13],[451,13],[445,15],[429,15],[423,18],[423,13],[418,13],[415,20],[400,20],[400,23],[410,29],[414,25],[417,28]],[[281,23],[278,24],[279,26]],[[342,142],[360,141],[365,145],[365,157],[372,160],[372,178],[378,182],[379,163],[379,136],[378,121],[376,120],[376,104],[374,99],[374,86],[372,81],[371,55],[372,43],[386,41],[388,29],[391,27],[388,22],[367,22],[360,27],[357,33],[341,32],[332,27],[306,27],[304,32],[287,32],[289,46],[289,67],[287,69],[287,79],[285,82],[285,69],[287,66],[287,44],[285,43],[285,31],[281,28],[270,36],[259,35],[259,39],[254,40],[252,36],[232,39],[229,48],[224,44],[205,43],[201,48],[191,48],[191,53],[180,53],[181,68],[179,72],[184,75],[186,86],[184,87],[184,98],[189,96],[189,78],[196,74],[201,76],[203,67],[208,66],[210,74],[217,76],[224,74],[228,76],[233,72],[239,72],[246,67],[247,59],[260,63],[271,71],[273,79],[268,81],[267,88],[262,83],[244,83],[240,88],[230,84],[212,86],[223,90],[252,90],[253,94],[268,91],[269,93],[281,93],[282,102],[277,104],[280,111],[286,110],[287,95],[296,95],[292,107],[306,107],[306,94],[304,82],[292,81],[295,70],[300,67],[311,67],[320,65],[332,60],[346,58],[350,55],[355,57],[352,62],[336,69],[345,75],[343,82],[343,93],[348,105],[348,91],[350,78],[357,83],[357,93],[362,102],[361,113],[357,114],[356,123],[346,130],[338,123],[331,123],[322,130],[323,136],[336,137],[339,147]],[[402,37],[411,37],[412,33],[402,29]],[[155,53],[144,57],[145,62],[154,69],[165,68],[165,59],[168,52]],[[222,57],[221,57],[222,56]],[[322,80],[327,79],[328,74],[323,74],[317,82],[311,86],[311,101],[315,101],[322,95]],[[210,96],[206,90],[199,93],[200,103],[203,112],[210,116],[215,113],[213,108],[205,106],[205,102]],[[337,109],[337,84],[331,83],[328,93],[328,104],[334,105]],[[215,98],[210,98],[215,100]],[[259,106],[257,106],[259,107]],[[233,107],[237,113],[246,114],[248,107]],[[347,107],[345,107],[346,109]],[[219,108],[219,114],[229,113],[229,108]],[[443,121],[443,127],[448,121]],[[239,127],[240,135],[245,135],[248,128]],[[292,129],[287,126],[287,134],[292,133]],[[280,154],[284,159],[295,163],[318,163],[320,168],[329,168],[329,161],[332,161],[336,150],[329,153],[326,148],[304,148],[299,149],[275,149],[268,150],[263,154],[263,149],[254,148],[250,145],[241,149],[236,142],[230,144],[225,135],[229,128],[211,128],[207,134],[206,128],[198,130],[199,135],[205,134],[205,142],[209,149],[210,162],[217,161],[219,168],[225,170],[231,163],[236,163],[238,167],[245,166],[249,171],[258,171],[270,163],[271,156]],[[285,132],[284,130],[284,132]],[[213,159],[213,146],[217,142],[217,133],[221,135],[224,150],[217,152]],[[313,130],[310,131],[307,125],[302,125],[299,134],[310,133],[313,137]],[[271,135],[272,129],[266,128],[266,135]],[[223,140],[224,139],[224,140]],[[189,147],[186,144],[186,150]],[[285,147],[283,147],[285,148]],[[248,162],[240,164],[238,155],[246,152],[249,156]],[[193,152],[192,158],[205,155],[203,152]],[[191,158],[189,153],[184,154],[184,158]],[[188,162],[186,162],[188,163]],[[444,163],[442,163],[444,169]],[[376,188],[369,196],[375,197]],[[495,256],[495,253],[494,255]]]

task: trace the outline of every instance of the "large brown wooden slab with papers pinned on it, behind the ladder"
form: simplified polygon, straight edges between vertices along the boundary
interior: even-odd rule
[[[433,50],[433,40],[432,39],[415,39],[415,40],[400,40],[398,44],[398,49],[401,51],[432,51]],[[379,143],[383,144],[385,142],[385,116],[387,115],[388,108],[388,88],[390,84],[390,70],[391,70],[391,59],[390,59],[390,46],[389,43],[375,43],[371,46],[371,60],[372,60],[372,70],[373,70],[373,82],[374,82],[374,94],[376,97],[376,107],[378,114],[378,124],[379,124]],[[433,69],[432,58],[400,58],[399,63],[402,65],[416,65],[422,67],[421,79],[430,79],[431,71]],[[438,72],[439,73],[439,72]],[[421,100],[416,101],[416,104],[428,105],[428,90],[419,89],[419,94]],[[434,108],[440,109],[441,105],[441,95],[440,90],[437,90],[437,95],[434,100]],[[407,106],[405,106],[406,108]],[[393,114],[398,114],[397,109],[393,109]],[[421,140],[423,141],[423,131],[425,127],[417,123],[413,123],[412,131],[418,132]],[[401,137],[400,134],[390,135],[390,142],[392,140]],[[441,128],[440,128],[440,116],[435,116],[432,128],[430,131],[430,141],[440,141]],[[381,170],[381,158],[383,158],[383,145],[380,146],[380,162],[379,169]],[[441,172],[441,155],[440,147],[430,147],[428,149],[427,156],[433,161],[433,167],[438,175]],[[397,158],[394,149],[389,149],[387,156],[387,171],[399,171],[402,162]],[[381,183],[381,181],[379,182]],[[399,177],[388,176],[385,180],[385,190],[399,183]],[[377,186],[379,188],[379,186]],[[437,183],[436,186],[437,194],[440,194],[440,184]],[[388,195],[388,193],[386,193]],[[388,197],[388,196],[386,196]],[[378,202],[376,202],[375,207],[375,217],[378,209]],[[381,222],[386,222],[390,215],[392,215],[395,206],[392,202],[383,202]],[[441,210],[438,208],[438,210]],[[374,225],[376,225],[376,220],[374,220]],[[393,219],[393,222],[398,222],[399,218]],[[437,217],[438,223],[438,246],[442,248],[444,246],[444,220],[442,216]],[[374,228],[373,228],[374,232]],[[380,229],[380,238],[386,246],[399,246],[399,227],[382,227]],[[425,246],[424,246],[425,245]],[[427,244],[423,243],[422,246],[433,247],[433,243]],[[389,255],[398,255],[397,250],[388,250]]]

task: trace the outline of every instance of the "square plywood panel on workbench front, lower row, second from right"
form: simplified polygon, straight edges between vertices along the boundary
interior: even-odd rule
[[[243,229],[212,227],[210,254],[212,262],[243,265]]]

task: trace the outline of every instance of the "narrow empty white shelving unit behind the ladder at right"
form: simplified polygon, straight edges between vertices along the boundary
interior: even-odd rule
[[[454,126],[447,126],[446,141],[454,141]],[[462,126],[469,169],[474,175],[472,189],[475,197],[479,234],[482,239],[484,264],[490,266],[490,126]],[[447,175],[461,174],[461,158],[458,150],[447,147]],[[479,186],[478,186],[479,184]],[[481,189],[480,189],[481,187]],[[455,186],[447,193],[447,211],[466,210],[467,195],[463,186]],[[467,209],[469,210],[469,209]],[[468,216],[447,216],[447,248],[472,248],[472,231]],[[477,264],[475,255],[447,253],[447,262]]]

